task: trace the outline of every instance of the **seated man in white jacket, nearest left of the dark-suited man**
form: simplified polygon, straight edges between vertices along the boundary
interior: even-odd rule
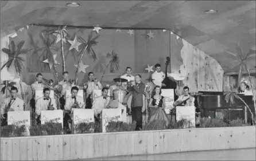
[[[108,103],[110,102],[110,97],[107,96],[108,89],[102,89],[102,96],[96,97],[92,103],[92,109],[94,110],[95,120],[99,120],[100,113],[103,108],[107,108]]]

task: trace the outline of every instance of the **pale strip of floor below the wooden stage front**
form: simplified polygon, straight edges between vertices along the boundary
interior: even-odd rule
[[[110,158],[82,160],[256,160],[255,152],[255,148],[247,148],[238,150],[177,152],[156,155],[115,156]]]

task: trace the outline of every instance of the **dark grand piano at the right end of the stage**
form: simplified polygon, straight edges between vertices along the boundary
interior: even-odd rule
[[[248,109],[245,108],[245,104],[235,98],[235,103],[230,104],[225,100],[224,92],[205,92],[199,91],[203,95],[195,96],[195,106],[197,111],[200,109],[201,117],[212,117],[227,120],[245,119],[247,122],[251,121],[251,114]],[[253,113],[253,96],[239,95]]]

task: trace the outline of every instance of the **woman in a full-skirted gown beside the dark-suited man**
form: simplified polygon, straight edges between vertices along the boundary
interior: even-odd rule
[[[168,117],[165,113],[165,98],[161,96],[161,88],[160,86],[156,86],[153,90],[153,96],[149,101],[150,115],[148,122],[153,120],[165,120],[166,127],[169,125]]]

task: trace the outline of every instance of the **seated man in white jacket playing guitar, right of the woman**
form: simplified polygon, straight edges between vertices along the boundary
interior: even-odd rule
[[[173,106],[195,106],[195,97],[189,95],[189,88],[186,86],[183,88],[183,95],[173,103]]]

